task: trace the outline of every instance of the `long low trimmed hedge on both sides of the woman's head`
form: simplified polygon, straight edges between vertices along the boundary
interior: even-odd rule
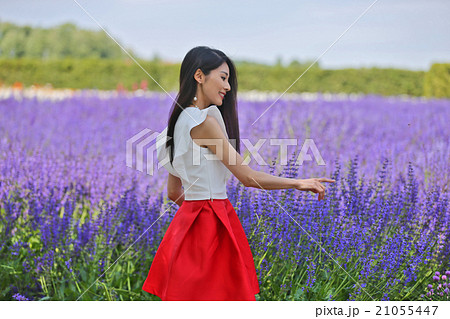
[[[179,63],[136,61],[145,71],[131,59],[0,58],[0,81],[5,85],[15,82],[21,82],[24,86],[51,83],[55,88],[103,90],[116,89],[119,83],[131,90],[133,84],[147,81],[147,88],[152,91],[162,92],[162,88],[166,91],[178,89]],[[422,96],[425,75],[422,71],[378,68],[322,70],[318,67],[311,67],[304,73],[308,66],[295,63],[285,67],[238,62],[236,68],[240,92],[284,92],[289,88],[288,93],[342,92]]]

